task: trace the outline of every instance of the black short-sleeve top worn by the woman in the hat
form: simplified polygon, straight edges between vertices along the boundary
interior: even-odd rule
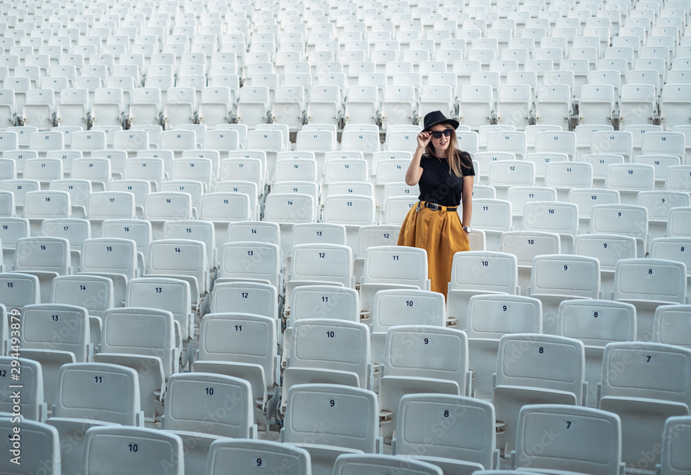
[[[473,161],[470,153],[459,151],[461,157],[461,173],[463,176],[475,176]],[[419,199],[442,206],[458,206],[463,192],[463,178],[457,177],[448,167],[446,158],[423,155],[420,159],[422,176],[418,183]]]

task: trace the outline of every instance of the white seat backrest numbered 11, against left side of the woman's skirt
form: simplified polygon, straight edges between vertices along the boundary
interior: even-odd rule
[[[375,246],[365,252],[363,283],[400,283],[426,290],[427,251],[404,246]]]

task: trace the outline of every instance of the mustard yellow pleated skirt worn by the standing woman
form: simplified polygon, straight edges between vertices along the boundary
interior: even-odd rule
[[[432,211],[424,207],[424,201],[410,208],[401,225],[398,245],[427,250],[428,274],[431,290],[444,294],[451,281],[453,254],[471,250],[458,213],[440,207]]]

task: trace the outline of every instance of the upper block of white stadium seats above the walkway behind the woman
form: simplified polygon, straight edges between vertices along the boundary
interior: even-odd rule
[[[688,124],[685,2],[507,3],[13,6],[0,44],[8,122],[386,129],[440,108],[473,128]],[[53,91],[66,93],[56,103]]]

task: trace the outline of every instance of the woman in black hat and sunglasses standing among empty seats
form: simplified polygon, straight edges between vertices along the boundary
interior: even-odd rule
[[[456,148],[457,127],[458,122],[447,119],[441,111],[425,115],[424,129],[417,136],[417,149],[406,172],[408,185],[419,184],[419,203],[410,208],[398,238],[398,245],[427,250],[431,290],[445,298],[453,254],[470,250],[473,211],[475,170],[470,154]]]

